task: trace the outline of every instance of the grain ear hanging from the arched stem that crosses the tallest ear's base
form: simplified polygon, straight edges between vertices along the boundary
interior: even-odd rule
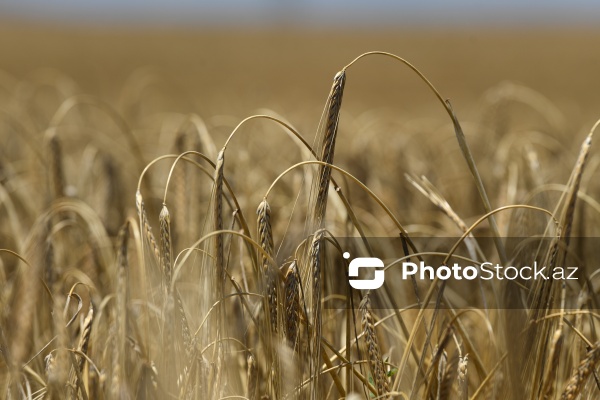
[[[271,207],[264,199],[256,210],[258,215],[258,237],[262,249],[273,258],[273,231],[271,228]],[[266,255],[262,255],[262,268],[266,280],[267,302],[271,318],[271,331],[277,332],[277,277],[272,271],[271,261]]]

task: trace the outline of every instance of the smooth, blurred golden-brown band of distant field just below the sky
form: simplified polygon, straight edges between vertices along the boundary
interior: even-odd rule
[[[599,32],[523,25],[152,29],[5,22],[0,68],[18,79],[55,68],[80,91],[109,100],[118,98],[132,74],[150,68],[156,84],[144,98],[149,107],[237,117],[267,107],[315,128],[332,76],[358,54],[384,50],[420,68],[460,114],[509,80],[580,119],[593,117],[600,103]],[[422,83],[399,65],[372,59],[355,69],[346,113],[383,107],[406,117],[442,114]],[[162,96],[153,96],[156,91]]]

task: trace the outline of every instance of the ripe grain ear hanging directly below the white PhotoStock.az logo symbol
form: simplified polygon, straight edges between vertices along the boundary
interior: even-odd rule
[[[381,357],[381,351],[379,350],[379,343],[377,340],[377,334],[375,333],[375,320],[371,313],[371,301],[369,300],[369,294],[367,294],[360,302],[359,309],[362,313],[361,325],[364,332],[364,340],[367,346],[367,354],[369,356],[369,370],[371,371],[371,377],[373,378],[375,389],[377,389],[377,396],[386,397],[389,393],[389,382],[387,374],[385,372],[385,365],[383,364],[383,358]]]

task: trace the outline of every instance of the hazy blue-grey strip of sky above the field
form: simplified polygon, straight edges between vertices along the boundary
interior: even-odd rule
[[[220,24],[600,24],[598,0],[1,0],[0,18],[55,22]]]

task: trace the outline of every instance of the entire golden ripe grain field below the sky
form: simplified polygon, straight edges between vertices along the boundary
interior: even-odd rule
[[[598,398],[599,41],[3,24],[0,397]]]

